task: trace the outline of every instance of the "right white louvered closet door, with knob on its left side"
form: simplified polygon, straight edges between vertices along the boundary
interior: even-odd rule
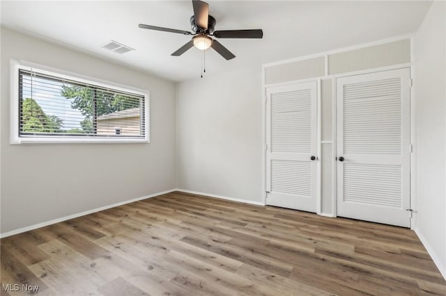
[[[337,79],[337,215],[410,227],[410,70]]]

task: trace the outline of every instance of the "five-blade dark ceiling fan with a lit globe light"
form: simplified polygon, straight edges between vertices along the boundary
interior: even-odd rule
[[[160,26],[149,26],[146,24],[139,24],[139,28],[147,28],[149,30],[163,31],[170,33],[178,33],[183,35],[192,35],[192,40],[184,44],[172,56],[181,56],[188,49],[195,46],[198,49],[206,50],[212,47],[218,54],[220,54],[226,60],[235,58],[231,51],[226,49],[220,42],[210,38],[262,38],[263,31],[261,29],[254,30],[226,30],[226,31],[214,31],[215,18],[209,15],[209,4],[199,0],[192,0],[192,6],[194,7],[194,15],[190,17],[190,25],[192,27],[191,33],[189,31],[176,30],[174,28],[162,28]]]

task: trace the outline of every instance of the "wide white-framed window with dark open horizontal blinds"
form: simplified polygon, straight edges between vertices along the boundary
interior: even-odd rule
[[[18,63],[13,78],[13,144],[148,142],[146,92]]]

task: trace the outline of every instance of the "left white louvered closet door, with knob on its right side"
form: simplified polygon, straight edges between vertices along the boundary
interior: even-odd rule
[[[316,212],[316,91],[316,81],[266,91],[266,204]]]

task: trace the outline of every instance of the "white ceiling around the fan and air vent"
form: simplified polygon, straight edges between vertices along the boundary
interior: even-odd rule
[[[206,51],[206,72],[224,72],[413,33],[431,1],[208,1],[216,30],[263,29],[263,39],[220,39],[236,58]],[[172,81],[200,76],[202,51],[170,54],[190,36],[191,1],[1,1],[1,24]],[[136,49],[116,54],[108,40]]]

